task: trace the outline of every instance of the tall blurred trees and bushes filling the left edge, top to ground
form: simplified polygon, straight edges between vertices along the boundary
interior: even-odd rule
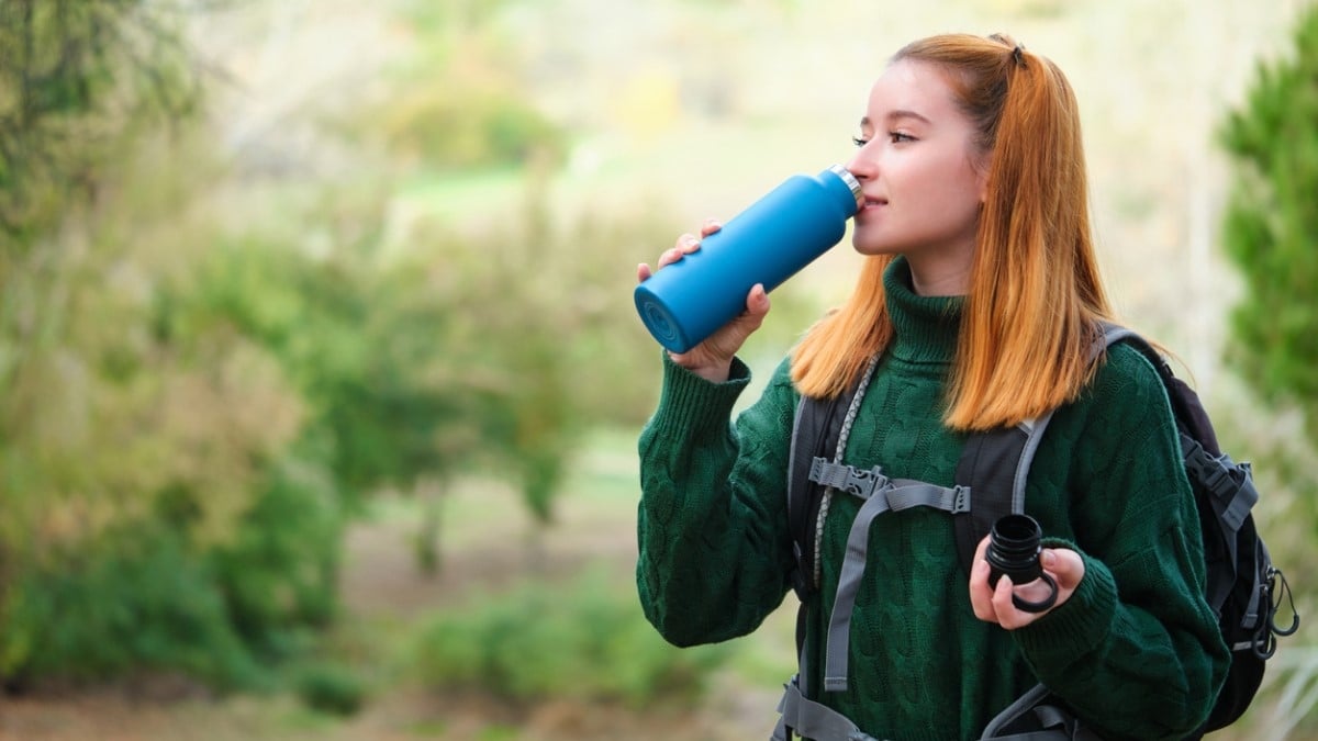
[[[0,7],[9,686],[137,668],[250,683],[258,655],[332,614],[336,505],[290,452],[304,414],[287,369],[228,326],[169,332],[158,301],[215,174],[174,158],[202,102],[185,20],[170,3]]]

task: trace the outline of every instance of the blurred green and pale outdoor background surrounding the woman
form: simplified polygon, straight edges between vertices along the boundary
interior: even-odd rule
[[[1069,75],[1118,307],[1313,614],[1311,3],[0,0],[0,738],[767,736],[795,604],[689,650],[637,605],[635,265],[952,30]],[[1318,738],[1311,633],[1269,666],[1219,737]]]

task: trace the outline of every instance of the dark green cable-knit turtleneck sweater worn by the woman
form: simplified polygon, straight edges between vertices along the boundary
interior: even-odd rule
[[[902,260],[884,281],[896,338],[845,463],[948,487],[965,440],[941,422],[961,299],[915,295]],[[753,632],[789,591],[786,487],[799,397],[784,361],[729,425],[746,365],[712,384],[664,357],[659,407],[639,440],[641,601],[676,645],[724,641]],[[876,738],[971,740],[1044,682],[1104,737],[1193,732],[1228,658],[1201,597],[1199,523],[1178,444],[1156,370],[1133,348],[1111,348],[1093,384],[1053,417],[1027,484],[1025,509],[1048,545],[1085,559],[1072,599],[1016,632],[979,621],[950,516],[884,513],[855,600],[850,686],[813,699]],[[811,688],[822,687],[828,613],[858,509],[837,496],[824,525],[822,585],[807,626]]]

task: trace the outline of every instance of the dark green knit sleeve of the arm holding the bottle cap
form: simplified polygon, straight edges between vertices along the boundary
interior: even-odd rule
[[[1203,599],[1199,519],[1156,373],[1114,347],[1091,398],[1077,405],[1087,411],[1065,484],[1073,537],[1048,545],[1078,551],[1085,578],[1016,632],[1039,679],[1104,738],[1191,733],[1230,662]]]

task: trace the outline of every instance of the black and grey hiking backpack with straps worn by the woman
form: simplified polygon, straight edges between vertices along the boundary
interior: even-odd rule
[[[1235,463],[1222,452],[1198,396],[1174,374],[1156,348],[1131,330],[1114,324],[1103,324],[1102,330],[1102,345],[1095,347],[1095,355],[1116,341],[1126,341],[1157,369],[1172,403],[1186,476],[1198,505],[1207,566],[1206,597],[1218,616],[1222,637],[1231,649],[1227,679],[1209,720],[1195,733],[1199,737],[1230,725],[1244,713],[1263,682],[1265,662],[1276,651],[1277,637],[1294,633],[1300,616],[1294,612],[1289,585],[1281,571],[1272,564],[1251,514],[1259,493],[1253,487],[1249,464]],[[817,574],[817,564],[813,563],[815,534],[821,505],[826,505],[824,493],[832,488],[833,492],[846,492],[866,502],[847,541],[846,558],[851,563],[844,563],[841,570],[838,599],[825,643],[825,690],[846,687],[846,637],[850,608],[854,604],[847,600],[854,599],[854,588],[863,572],[867,547],[863,541],[867,539],[873,518],[890,509],[920,505],[952,513],[958,558],[969,574],[975,547],[994,522],[1006,514],[1024,512],[1025,477],[1052,418],[1052,413],[1048,413],[1027,425],[970,435],[957,464],[956,485],[950,489],[919,481],[890,480],[878,469],[858,471],[841,464],[841,455],[874,365],[871,361],[863,377],[840,398],[803,397],[792,431],[787,509],[796,555],[792,587],[801,599],[797,616],[799,650],[804,641],[807,597],[815,588]],[[880,489],[883,497],[871,496]],[[973,497],[970,492],[974,493]],[[875,500],[886,500],[886,504],[875,504]],[[1282,597],[1290,600],[1293,616],[1286,628],[1278,628],[1275,622]],[[844,614],[837,614],[840,610]],[[828,708],[804,699],[805,690],[797,680],[804,682],[801,678],[808,676],[808,672],[805,654],[800,655],[800,672],[784,695],[784,705],[791,712],[784,712],[775,738],[789,737],[791,730],[804,733],[801,728],[792,725],[797,717],[807,725],[815,723],[817,728],[847,724],[841,716],[832,717],[836,713]],[[1056,729],[1056,738],[1094,737],[1087,729],[1078,728],[1078,721],[1054,700],[1045,687],[1035,687],[994,719],[983,738],[1008,738],[1012,733],[1033,738],[1036,736],[1031,732],[1040,728]],[[784,723],[789,729],[786,733]]]

